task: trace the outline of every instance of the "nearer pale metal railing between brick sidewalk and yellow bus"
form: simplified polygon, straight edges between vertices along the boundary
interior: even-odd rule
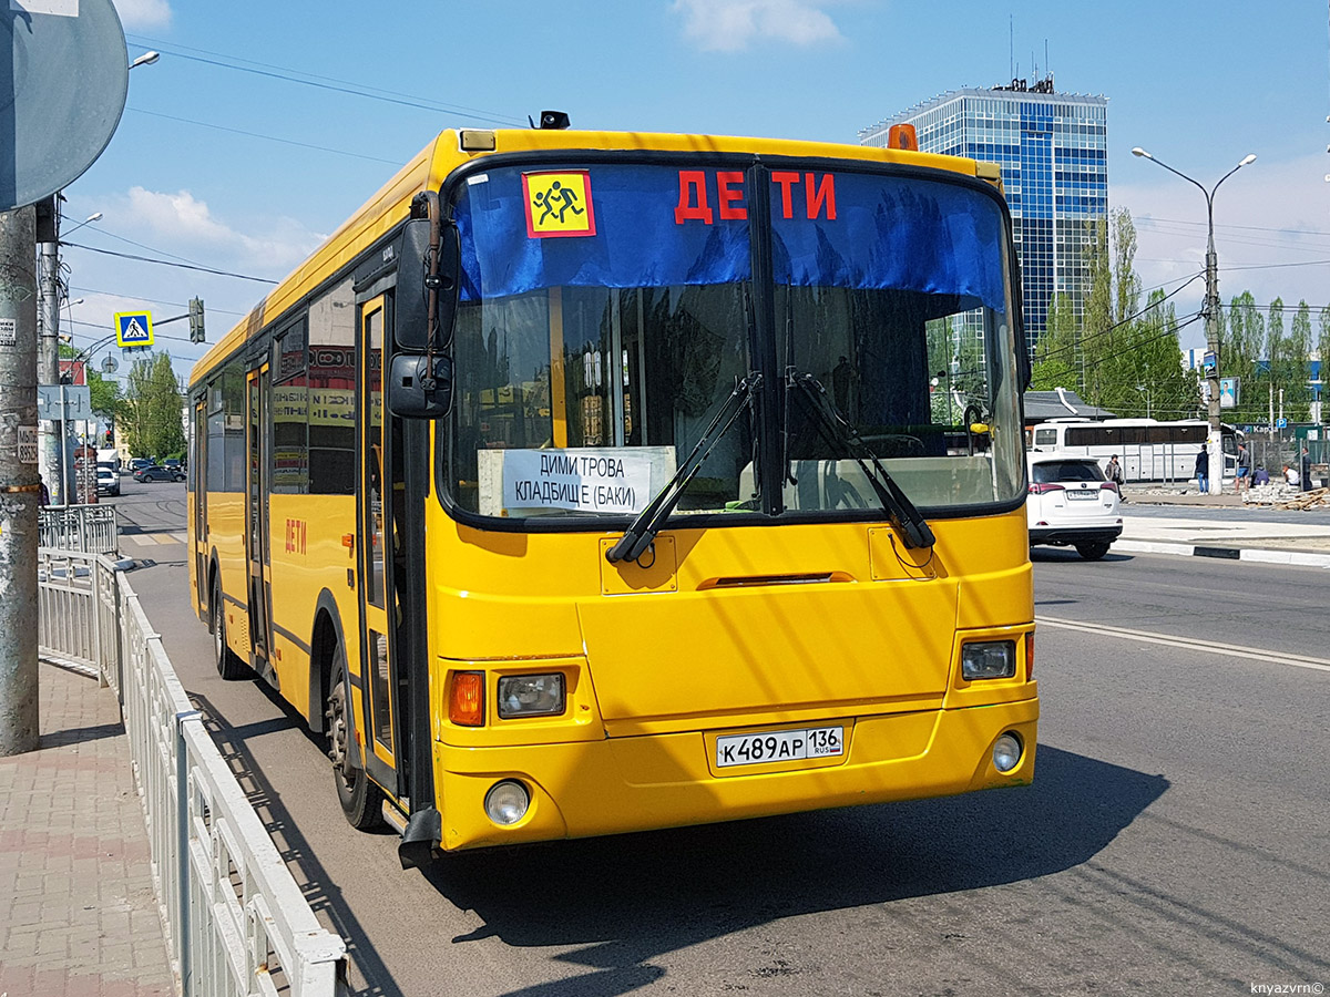
[[[124,573],[105,556],[39,556],[43,655],[92,663],[122,690],[182,993],[342,997],[346,944],[314,916]]]

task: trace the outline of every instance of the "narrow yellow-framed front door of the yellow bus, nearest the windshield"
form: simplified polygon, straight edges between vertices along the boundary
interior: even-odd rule
[[[366,771],[392,796],[400,796],[398,783],[398,698],[394,643],[396,630],[394,565],[395,485],[392,473],[392,433],[383,399],[384,331],[387,299],[371,298],[360,304],[360,383],[364,404],[356,409],[360,441],[360,473],[364,487],[356,489],[360,533],[360,611],[364,619],[362,641],[362,706],[366,718]],[[399,800],[400,802],[400,800]]]

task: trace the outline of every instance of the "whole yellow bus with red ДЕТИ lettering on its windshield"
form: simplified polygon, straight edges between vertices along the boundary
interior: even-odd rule
[[[403,865],[1027,784],[1028,374],[995,166],[446,130],[194,368],[193,598]]]

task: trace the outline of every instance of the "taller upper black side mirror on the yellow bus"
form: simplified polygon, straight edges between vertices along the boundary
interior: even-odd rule
[[[452,339],[452,322],[458,314],[458,284],[462,274],[462,243],[458,226],[439,226],[439,265],[430,274],[430,221],[414,218],[402,234],[398,265],[394,338],[402,350],[423,352],[430,338],[430,291],[435,292],[438,332],[435,350]]]

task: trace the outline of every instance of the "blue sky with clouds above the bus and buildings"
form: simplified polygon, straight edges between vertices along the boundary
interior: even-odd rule
[[[855,142],[861,128],[956,86],[1004,82],[1015,66],[1109,98],[1109,198],[1137,219],[1146,287],[1172,290],[1202,267],[1205,202],[1132,146],[1206,186],[1256,153],[1216,198],[1221,295],[1330,303],[1321,4],[116,5],[129,57],[162,58],[130,73],[118,132],[65,191],[66,238],[85,246],[281,278],[443,128],[524,125],[556,108],[575,128]],[[281,78],[293,76],[319,85]],[[391,100],[342,92],[370,88]],[[69,231],[94,211],[98,223]],[[146,304],[166,318],[193,295],[215,342],[266,287],[78,249],[64,259],[70,298],[84,299],[64,316],[80,346],[109,331],[114,311]],[[1181,292],[1180,312],[1200,292],[1200,282]],[[1198,323],[1185,335],[1184,346],[1201,344]],[[202,355],[188,342],[162,346],[181,374]]]

